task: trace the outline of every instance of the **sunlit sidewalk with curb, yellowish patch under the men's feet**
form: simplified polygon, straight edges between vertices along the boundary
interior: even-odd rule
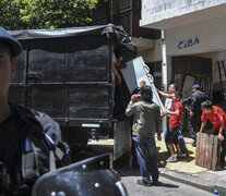
[[[214,189],[218,189],[219,195],[226,196],[226,169],[211,171],[195,166],[195,147],[191,145],[193,140],[187,137],[185,140],[189,149],[189,157],[177,162],[166,163],[169,155],[165,142],[164,139],[162,142],[156,139],[158,159],[163,166],[159,168],[160,175],[212,193]]]

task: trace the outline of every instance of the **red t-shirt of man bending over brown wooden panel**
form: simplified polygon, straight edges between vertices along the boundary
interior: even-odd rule
[[[217,106],[213,106],[211,113],[202,112],[201,120],[203,122],[210,120],[213,123],[214,131],[219,131],[221,124],[225,123],[224,130],[226,130],[226,113]]]

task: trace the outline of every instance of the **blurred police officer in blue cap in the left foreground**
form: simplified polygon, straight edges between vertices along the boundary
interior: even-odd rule
[[[41,168],[35,169],[25,156],[31,150],[26,138],[44,140],[48,134],[55,145],[61,142],[61,131],[57,122],[45,113],[8,101],[11,79],[15,76],[14,58],[22,52],[21,44],[0,26],[0,195],[31,195],[32,184],[38,175],[49,170],[39,159]],[[45,134],[44,134],[45,133]],[[29,149],[27,147],[29,145]],[[48,146],[49,144],[46,143]],[[39,148],[43,157],[44,148]],[[34,154],[29,154],[33,155]],[[28,158],[28,160],[27,160]],[[38,157],[36,157],[38,158]],[[44,158],[44,157],[43,157]],[[43,161],[43,162],[41,162]],[[26,164],[29,163],[31,168]],[[34,171],[33,171],[34,169]],[[37,172],[39,174],[37,174]],[[29,174],[29,175],[28,175]]]

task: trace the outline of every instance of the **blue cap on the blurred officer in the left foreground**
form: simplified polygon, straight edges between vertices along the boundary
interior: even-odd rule
[[[4,40],[10,45],[12,49],[12,57],[19,56],[23,50],[21,42],[10,36],[10,34],[2,26],[0,26],[0,40]]]

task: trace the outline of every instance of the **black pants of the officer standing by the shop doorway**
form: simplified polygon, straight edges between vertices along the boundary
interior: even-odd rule
[[[197,132],[201,127],[201,113],[195,113],[193,117],[189,117],[188,120],[188,130],[192,139],[197,139]]]

